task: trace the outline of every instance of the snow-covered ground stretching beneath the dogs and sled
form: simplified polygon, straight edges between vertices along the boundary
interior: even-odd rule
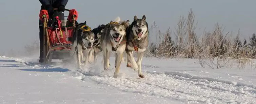
[[[256,104],[256,70],[201,68],[196,59],[144,58],[145,78],[121,64],[120,76],[95,66],[40,65],[37,57],[0,56],[3,104]]]

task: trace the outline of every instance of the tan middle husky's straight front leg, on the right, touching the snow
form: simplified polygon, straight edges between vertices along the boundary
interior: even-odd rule
[[[116,53],[116,60],[115,60],[115,72],[114,72],[114,78],[116,78],[118,76],[118,73],[120,71],[120,64],[121,64],[121,61],[122,61],[122,57],[123,57],[123,53],[121,52],[117,52]]]

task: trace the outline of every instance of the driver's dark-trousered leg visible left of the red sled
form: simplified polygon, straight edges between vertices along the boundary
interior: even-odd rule
[[[39,20],[39,41],[40,41],[40,56],[39,62],[43,62],[43,23]]]

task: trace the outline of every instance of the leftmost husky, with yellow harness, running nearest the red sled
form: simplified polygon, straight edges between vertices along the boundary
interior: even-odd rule
[[[90,51],[94,42],[94,33],[92,32],[91,27],[86,25],[86,21],[77,24],[72,42],[71,55],[74,56],[74,54],[76,54],[77,66],[78,69],[80,69],[81,61],[85,64],[88,62],[88,54],[85,55],[84,59],[83,51]]]

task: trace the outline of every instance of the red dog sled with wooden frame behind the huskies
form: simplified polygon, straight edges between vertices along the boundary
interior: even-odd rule
[[[58,15],[53,16],[54,19],[49,20],[48,11],[40,11],[39,17],[43,22],[44,28],[44,63],[51,63],[52,59],[65,61],[71,57],[70,51],[73,46],[72,40],[78,12],[76,9],[65,10],[69,11],[69,14],[64,16],[67,17],[64,20],[61,20]]]

